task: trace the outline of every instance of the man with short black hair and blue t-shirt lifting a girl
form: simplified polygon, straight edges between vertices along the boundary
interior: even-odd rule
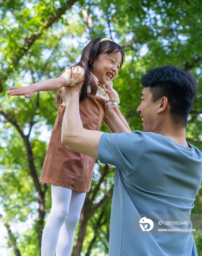
[[[132,133],[112,108],[104,118],[112,133],[84,129],[81,85],[65,88],[62,144],[117,167],[109,256],[196,256],[192,235],[132,235],[132,214],[190,214],[202,181],[202,154],[185,138],[195,79],[167,65],[150,70],[141,83],[137,112],[144,129]]]

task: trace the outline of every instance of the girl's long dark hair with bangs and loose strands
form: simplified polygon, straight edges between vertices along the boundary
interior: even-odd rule
[[[92,39],[83,49],[80,61],[76,65],[70,67],[71,75],[72,75],[73,67],[81,67],[84,69],[84,72],[85,72],[84,83],[81,88],[81,95],[79,98],[80,101],[83,101],[85,98],[87,98],[88,83],[91,83],[91,93],[94,95],[96,94],[97,90],[96,90],[95,82],[94,82],[94,79],[92,78],[91,72],[92,72],[92,65],[94,61],[99,57],[100,54],[110,54],[113,52],[114,53],[120,52],[121,53],[120,68],[125,61],[125,53],[121,48],[121,46],[111,41],[103,41],[100,43],[100,40],[102,38],[103,37],[97,37]],[[63,71],[60,75],[62,75],[65,71]],[[62,99],[60,98],[58,91],[56,91],[55,93],[56,93],[56,100],[54,101],[54,103],[57,103],[58,105],[60,105],[62,103]]]

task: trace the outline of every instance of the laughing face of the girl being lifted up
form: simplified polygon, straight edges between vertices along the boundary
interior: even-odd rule
[[[92,74],[98,78],[101,84],[107,85],[117,76],[120,64],[120,52],[100,54],[92,64]]]

